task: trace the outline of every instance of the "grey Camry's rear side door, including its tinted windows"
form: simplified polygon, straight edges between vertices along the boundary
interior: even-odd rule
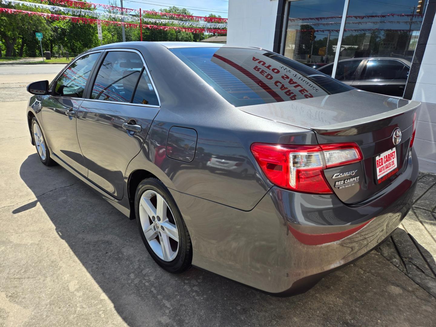
[[[135,50],[102,55],[77,115],[77,136],[88,178],[117,199],[124,173],[159,111],[159,99],[143,58]]]

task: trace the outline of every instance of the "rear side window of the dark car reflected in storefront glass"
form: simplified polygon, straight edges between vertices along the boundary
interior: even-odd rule
[[[407,79],[409,68],[402,62],[391,59],[372,59],[362,70],[360,79]]]

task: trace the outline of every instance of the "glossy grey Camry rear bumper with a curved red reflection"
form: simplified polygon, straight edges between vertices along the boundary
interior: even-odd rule
[[[272,187],[251,211],[171,191],[191,235],[194,266],[288,296],[383,242],[412,206],[413,154],[401,177],[356,206],[334,194]]]

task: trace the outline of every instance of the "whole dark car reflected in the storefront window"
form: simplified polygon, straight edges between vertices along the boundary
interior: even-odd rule
[[[337,63],[335,78],[356,89],[402,97],[410,65],[402,58],[344,59]],[[317,69],[331,76],[333,63]]]

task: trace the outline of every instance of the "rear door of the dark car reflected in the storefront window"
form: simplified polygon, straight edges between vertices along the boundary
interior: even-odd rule
[[[385,95],[402,96],[409,67],[395,59],[368,59],[353,83],[357,89]]]

